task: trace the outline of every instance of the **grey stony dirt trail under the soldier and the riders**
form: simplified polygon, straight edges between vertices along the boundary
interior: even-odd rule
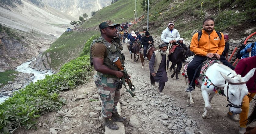
[[[203,113],[204,100],[200,89],[196,88],[192,93],[195,106],[188,107],[190,102],[189,98],[185,97],[184,77],[179,75],[180,80],[176,81],[175,78],[170,78],[171,73],[167,72],[169,80],[163,90],[165,96],[160,96],[157,94],[157,88],[153,88],[150,85],[148,62],[145,62],[144,68],[141,68],[140,59],[137,63],[134,63],[134,60],[131,60],[131,55],[128,53],[127,48],[124,48],[123,53],[126,56],[125,68],[131,75],[132,82],[137,88],[135,92],[136,97],[131,97],[128,92],[125,92],[120,99],[122,115],[128,118],[128,120],[124,122],[127,134],[184,134],[186,128],[192,128],[194,133],[202,134],[237,133],[239,123],[233,122],[227,117],[228,108],[225,107],[227,104],[226,97],[216,94],[211,103],[212,110],[209,113],[209,118],[202,119],[201,114]],[[72,101],[75,96],[84,93],[88,95],[86,98]],[[89,99],[93,98],[92,95],[96,94],[97,89],[92,80],[87,84],[78,86],[75,90],[65,91],[62,93],[62,97],[65,97],[69,103],[64,105],[61,109],[63,111],[65,111],[65,109],[67,109],[66,111],[73,109],[73,117],[57,117],[56,111],[49,112],[46,115],[42,115],[38,120],[41,126],[39,124],[40,127],[37,130],[20,128],[15,131],[15,134],[46,134],[50,133],[50,128],[57,129],[56,131],[61,134],[104,133],[104,125],[102,117],[100,117],[100,111],[92,108],[95,106],[89,101]],[[90,112],[96,113],[99,117],[90,117]],[[160,117],[160,115],[164,113],[168,115],[168,119],[166,120]],[[139,128],[129,125],[129,120],[132,115],[139,118],[141,125]],[[170,127],[172,124],[174,126]],[[255,126],[255,124],[256,123],[253,123],[251,126]],[[193,132],[191,134],[193,134]]]

